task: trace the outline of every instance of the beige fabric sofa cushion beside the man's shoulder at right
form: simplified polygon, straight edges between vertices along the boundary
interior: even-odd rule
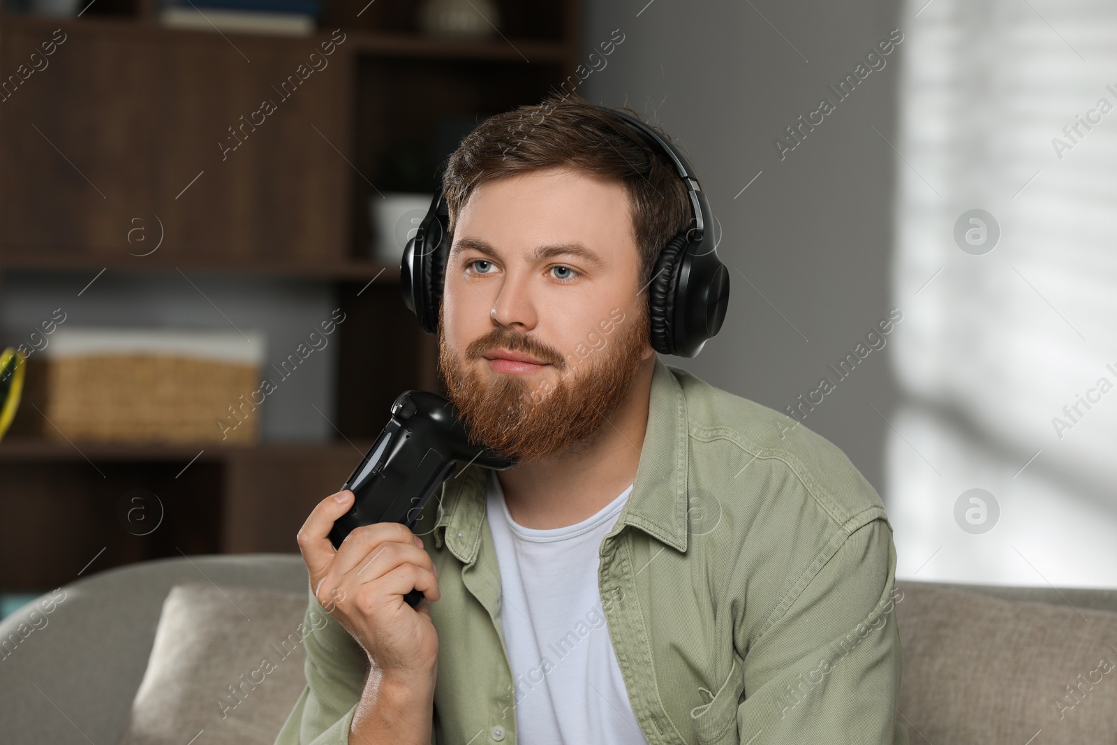
[[[1113,742],[1117,613],[899,586],[897,708],[913,744]]]

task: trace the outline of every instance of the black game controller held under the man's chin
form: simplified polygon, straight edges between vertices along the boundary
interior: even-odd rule
[[[404,391],[392,403],[392,418],[342,490],[353,491],[353,507],[330,531],[334,548],[353,528],[372,523],[403,523],[413,528],[423,506],[454,472],[455,461],[506,470],[515,459],[472,445],[454,404],[437,393]],[[403,596],[411,608],[422,592]]]

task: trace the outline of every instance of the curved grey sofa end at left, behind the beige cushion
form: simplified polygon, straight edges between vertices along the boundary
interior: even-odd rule
[[[66,585],[66,600],[47,627],[0,661],[0,743],[115,745],[168,592],[179,583],[209,581],[303,596],[308,584],[298,554],[233,554],[130,564]],[[27,622],[34,608],[0,621],[0,640]]]

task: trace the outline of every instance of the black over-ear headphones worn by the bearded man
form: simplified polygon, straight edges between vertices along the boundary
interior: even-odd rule
[[[691,225],[659,251],[648,292],[651,346],[661,354],[693,357],[717,334],[729,302],[729,273],[717,258],[713,214],[694,168],[674,143],[666,142],[640,120],[605,106],[598,108],[623,120],[653,149],[675,164],[690,197]],[[438,331],[446,262],[450,251],[449,211],[439,190],[400,264],[404,304],[428,334]]]

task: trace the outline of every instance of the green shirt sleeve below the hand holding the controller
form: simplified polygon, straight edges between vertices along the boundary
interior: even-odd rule
[[[275,745],[345,745],[369,669],[364,650],[307,586],[302,633],[306,687]]]

